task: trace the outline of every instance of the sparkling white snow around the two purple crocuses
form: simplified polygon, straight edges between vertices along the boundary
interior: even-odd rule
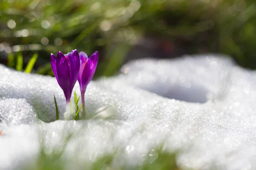
[[[80,95],[78,83],[74,90]],[[228,58],[130,62],[89,84],[89,120],[53,122],[53,94],[63,119],[55,78],[0,65],[0,170],[33,169],[42,150],[62,152],[67,170],[104,155],[132,168],[159,147],[177,152],[184,169],[256,169],[256,73]]]

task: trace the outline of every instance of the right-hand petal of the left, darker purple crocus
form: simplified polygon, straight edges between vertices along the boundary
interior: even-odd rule
[[[80,60],[79,54],[77,50],[73,50],[72,52],[66,55],[68,57],[69,67],[70,67],[70,91],[72,92],[74,85],[76,84],[76,80],[79,74],[80,68]]]

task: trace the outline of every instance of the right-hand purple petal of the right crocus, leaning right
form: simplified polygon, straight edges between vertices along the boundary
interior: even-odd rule
[[[86,65],[83,68],[81,79],[79,81],[80,90],[85,91],[89,82],[93,79],[93,75],[96,71],[98,64],[98,52],[94,52],[88,59]]]

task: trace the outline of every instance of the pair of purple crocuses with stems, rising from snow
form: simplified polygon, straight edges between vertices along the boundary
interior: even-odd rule
[[[97,51],[89,59],[87,54],[82,51],[78,54],[77,50],[67,54],[62,54],[59,51],[57,57],[51,54],[52,71],[66,97],[67,112],[64,114],[64,119],[70,119],[70,98],[77,79],[80,85],[83,113],[85,113],[84,93],[87,85],[93,79],[97,64]]]

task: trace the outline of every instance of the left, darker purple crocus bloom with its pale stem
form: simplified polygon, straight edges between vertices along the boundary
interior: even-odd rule
[[[59,51],[57,57],[55,57],[54,54],[51,54],[51,65],[57,82],[66,97],[67,116],[70,116],[70,98],[74,85],[76,84],[80,68],[79,54],[77,50],[73,50],[65,55]]]

